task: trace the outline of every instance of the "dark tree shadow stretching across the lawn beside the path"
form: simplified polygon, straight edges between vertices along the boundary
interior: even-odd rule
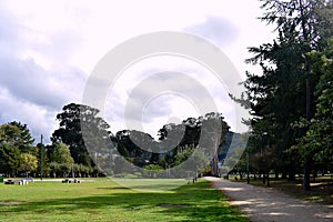
[[[94,211],[98,213],[99,210],[108,212],[117,209],[125,213],[147,211],[150,214],[170,215],[172,221],[246,221],[234,208],[229,206],[222,193],[211,189],[208,182],[184,185],[168,192],[129,192],[125,188],[124,191],[120,188],[110,188],[110,190],[115,189],[117,192],[109,194],[37,201],[2,210],[0,208],[0,212],[48,214]]]

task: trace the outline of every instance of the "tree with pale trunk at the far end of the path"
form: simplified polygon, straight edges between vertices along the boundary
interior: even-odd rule
[[[184,152],[178,155],[179,150],[186,147],[199,147],[205,157],[211,160],[211,174],[219,176],[219,148],[225,142],[225,135],[229,131],[229,125],[224,121],[221,113],[211,112],[204,117],[188,118],[182,124],[167,124],[159,131],[160,140],[168,144],[174,143],[173,149],[170,150],[165,157],[164,162],[174,164],[182,160],[181,157],[189,154]],[[179,137],[182,137],[179,139]]]

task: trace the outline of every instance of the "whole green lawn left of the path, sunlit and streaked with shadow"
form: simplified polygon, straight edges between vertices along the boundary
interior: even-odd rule
[[[140,188],[151,181],[140,181]],[[170,191],[138,191],[109,180],[0,184],[0,221],[248,221],[200,180]]]

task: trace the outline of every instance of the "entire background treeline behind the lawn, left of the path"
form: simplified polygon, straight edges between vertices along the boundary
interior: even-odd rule
[[[219,175],[218,157],[225,157],[228,152],[228,148],[222,149],[222,144],[229,131],[221,113],[189,118],[181,124],[165,124],[159,130],[158,141],[148,133],[134,130],[112,134],[110,125],[98,113],[98,109],[89,105],[64,105],[57,115],[59,129],[52,133],[52,144],[48,145],[33,145],[34,140],[26,124],[2,124],[0,173],[7,176],[37,176],[42,172],[42,176],[52,178],[124,173],[152,176],[159,170],[173,169],[194,157],[194,170],[186,174],[194,176],[195,172]],[[210,130],[203,132],[203,124]],[[200,147],[205,147],[209,152]],[[144,171],[133,170],[133,167]],[[182,173],[169,172],[167,176],[184,176]]]

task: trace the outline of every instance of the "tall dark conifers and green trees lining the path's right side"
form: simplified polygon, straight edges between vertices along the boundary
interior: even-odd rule
[[[250,170],[291,180],[302,173],[309,190],[311,173],[333,170],[333,2],[261,1],[261,20],[275,24],[278,38],[250,48],[246,62],[262,74],[246,73],[245,99],[233,98],[253,117]]]

